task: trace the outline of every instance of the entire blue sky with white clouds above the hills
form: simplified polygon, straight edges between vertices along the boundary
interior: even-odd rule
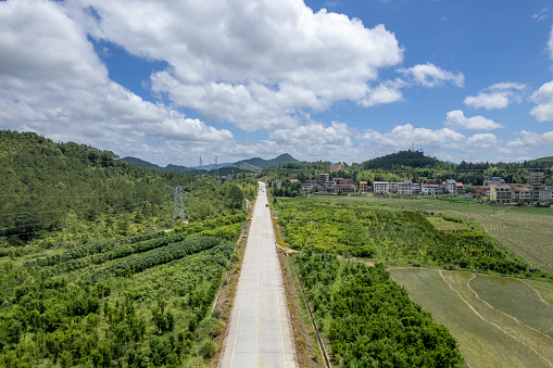
[[[0,128],[160,165],[553,155],[551,1],[0,1]]]

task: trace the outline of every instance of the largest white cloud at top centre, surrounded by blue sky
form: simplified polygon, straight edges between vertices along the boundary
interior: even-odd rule
[[[379,69],[403,60],[384,25],[314,13],[299,0],[75,0],[66,9],[92,37],[166,61],[153,91],[246,131],[298,125],[302,109],[363,101]]]

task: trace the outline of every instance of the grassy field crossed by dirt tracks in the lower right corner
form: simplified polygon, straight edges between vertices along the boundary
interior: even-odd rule
[[[523,282],[478,276],[469,283],[473,275],[468,272],[418,268],[392,269],[391,276],[416,303],[432,313],[437,322],[450,329],[469,367],[551,367],[553,364],[553,341],[549,335],[499,309],[506,309],[504,306],[494,307],[485,302],[486,299],[508,300],[513,290],[518,291],[527,300],[517,299],[508,312],[530,320],[531,306],[541,303],[541,308],[546,308],[548,305]],[[478,281],[481,289],[480,278],[487,289],[480,290],[478,299],[470,285]],[[533,283],[540,293],[541,290],[549,295],[553,293],[553,284],[533,281],[532,287]],[[545,316],[535,317],[531,323]]]

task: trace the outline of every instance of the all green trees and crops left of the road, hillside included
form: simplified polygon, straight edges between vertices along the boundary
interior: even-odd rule
[[[201,366],[256,180],[0,131],[0,367]],[[187,186],[188,224],[172,190]],[[175,231],[172,231],[174,228]]]

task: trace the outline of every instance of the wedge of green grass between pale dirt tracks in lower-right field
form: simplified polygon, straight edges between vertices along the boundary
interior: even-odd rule
[[[543,303],[528,284],[517,279],[478,275],[470,288],[495,309],[553,338],[553,307]]]

